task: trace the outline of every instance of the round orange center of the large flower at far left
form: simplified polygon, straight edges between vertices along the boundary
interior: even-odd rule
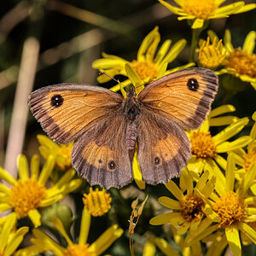
[[[46,196],[46,189],[36,180],[19,180],[11,189],[10,204],[17,213],[18,218],[27,216],[27,213],[39,207]]]

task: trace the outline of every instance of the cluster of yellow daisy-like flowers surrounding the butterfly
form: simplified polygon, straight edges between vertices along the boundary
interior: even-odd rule
[[[102,53],[102,59],[92,63],[92,67],[109,75],[101,74],[97,78],[99,83],[123,75],[125,81],[111,90],[121,90],[125,96],[123,86],[134,84],[139,93],[155,79],[197,65],[212,69],[219,76],[228,76],[229,79],[224,79],[221,84],[227,95],[233,96],[244,90],[242,84],[249,83],[256,90],[256,55],[253,54],[256,32],[248,32],[241,48],[234,48],[231,44],[229,30],[226,30],[224,39],[219,39],[212,31],[208,31],[206,40],[200,39],[209,20],[255,9],[256,4],[238,1],[220,7],[225,0],[175,0],[179,6],[176,7],[166,1],[159,2],[178,15],[178,20],[189,20],[193,32],[189,63],[168,69],[168,64],[176,59],[187,42],[179,40],[171,48],[172,40],[168,39],[159,47],[160,32],[155,26],[138,49],[137,59],[126,61],[119,56]],[[198,52],[197,63],[195,52]],[[224,102],[228,99],[228,96],[225,97]],[[192,157],[183,169],[178,184],[170,181],[165,185],[172,195],[158,198],[163,207],[156,207],[155,216],[149,221],[151,225],[164,225],[163,229],[168,230],[169,237],[171,231],[176,246],[149,232],[144,256],[154,255],[156,247],[165,255],[222,255],[230,247],[232,253],[238,256],[241,255],[241,246],[256,244],[256,112],[252,118],[238,118],[230,115],[235,111],[232,105],[221,105],[212,109],[200,129],[186,131]],[[248,124],[251,130],[246,135],[243,129]],[[113,224],[96,241],[87,242],[91,218],[102,216],[111,209],[110,193],[90,188],[89,193],[84,194],[81,199],[84,208],[80,235],[78,239],[71,239],[72,214],[60,201],[73,191],[83,191],[83,181],[75,176],[70,159],[73,143],[58,145],[43,135],[38,135],[38,142],[39,152],[45,160],[42,169],[38,154],[33,155],[30,168],[25,155],[18,157],[18,178],[0,167],[0,212],[4,213],[0,218],[0,255],[36,255],[44,252],[60,256],[102,254],[124,232],[118,224]],[[139,189],[145,189],[137,154],[133,160],[133,172]],[[152,201],[149,196],[147,202],[143,201],[143,207]],[[141,218],[143,207],[139,212]],[[132,216],[137,217],[135,207],[131,208]],[[18,228],[22,218],[29,218],[32,222],[30,226]],[[42,224],[57,230],[67,245],[63,246],[47,235],[44,229],[40,229]],[[131,227],[134,225],[132,234],[136,224],[130,224]],[[31,245],[18,249],[29,227],[32,228]]]

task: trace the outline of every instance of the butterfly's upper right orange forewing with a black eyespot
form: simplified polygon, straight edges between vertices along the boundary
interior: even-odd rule
[[[138,95],[143,108],[166,116],[185,130],[199,128],[218,90],[218,76],[205,68],[171,73],[149,84]]]

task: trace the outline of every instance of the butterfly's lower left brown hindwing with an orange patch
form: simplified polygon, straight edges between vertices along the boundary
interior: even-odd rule
[[[125,146],[125,117],[113,113],[96,123],[74,143],[74,168],[90,185],[122,187],[132,181],[131,158]]]

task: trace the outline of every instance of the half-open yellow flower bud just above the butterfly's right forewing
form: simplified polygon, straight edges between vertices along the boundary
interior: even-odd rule
[[[207,41],[203,41],[201,44],[198,55],[201,67],[215,69],[224,61],[226,51],[223,50],[222,40],[219,40],[218,43],[217,40],[217,38],[214,38],[212,44],[210,44],[210,38],[208,37]]]

